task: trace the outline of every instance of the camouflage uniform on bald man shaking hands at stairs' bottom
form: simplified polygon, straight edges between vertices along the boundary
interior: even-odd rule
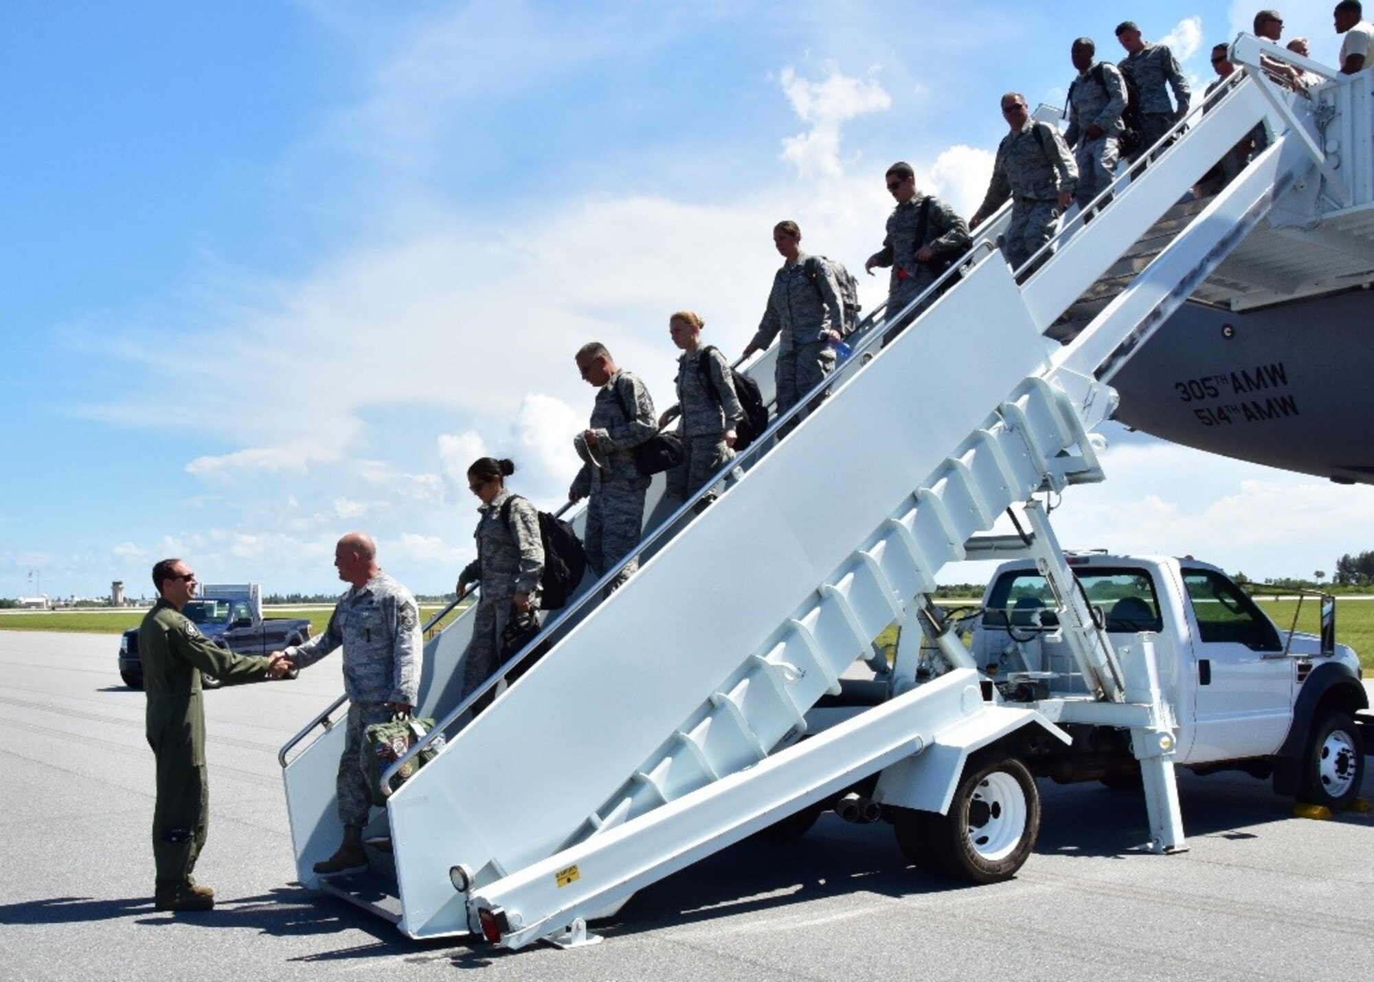
[[[344,646],[344,692],[348,693],[348,733],[339,755],[339,818],[363,827],[372,805],[363,769],[364,732],[394,715],[387,703],[416,706],[425,641],[419,608],[404,586],[383,572],[349,587],[330,615],[328,627],[302,645],[286,649],[298,668],[315,664]]]

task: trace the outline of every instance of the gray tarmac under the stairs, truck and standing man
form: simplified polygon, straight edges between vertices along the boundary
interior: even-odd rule
[[[0,979],[1370,978],[1374,816],[1294,818],[1241,776],[1180,778],[1182,855],[1138,847],[1139,792],[1041,783],[1040,842],[1010,883],[933,880],[886,825],[827,816],[794,843],[742,843],[644,890],[596,946],[412,942],[293,883],[276,751],[342,690],[334,659],[207,693],[196,876],[218,906],[158,913],[153,756],[117,646],[0,631]]]

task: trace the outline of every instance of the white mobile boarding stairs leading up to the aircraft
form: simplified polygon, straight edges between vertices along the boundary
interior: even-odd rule
[[[1257,63],[1260,43],[1242,37],[1238,48]],[[1330,88],[1340,102],[1353,85]],[[1261,118],[1275,129],[1270,150],[1069,345],[1047,342],[1044,331]],[[447,714],[451,739],[374,822],[390,827],[393,884],[320,883],[311,872],[338,838],[342,728],[287,762],[315,725],[302,730],[282,751],[301,882],[371,905],[412,937],[576,942],[585,920],[635,890],[864,778],[881,774],[872,796],[900,835],[905,816],[951,810],[976,751],[1026,728],[1066,739],[1033,708],[1003,704],[947,634],[938,644],[952,671],[916,688],[894,675],[883,704],[797,740],[807,711],[840,690],[841,673],[916,609],[973,536],[1037,491],[1101,477],[1087,430],[1112,411],[1112,374],[1275,199],[1326,166],[1267,83],[1242,80],[1190,122],[1113,187],[1091,223],[1070,221],[1022,285],[981,248],[962,282],[881,353],[882,331],[870,331],[819,408],[776,446],[750,448],[743,477],[705,512],[688,502],[650,535],[650,558],[621,590],[599,602],[592,590],[555,618],[552,649],[456,734],[466,704],[453,706],[448,668],[427,666],[420,712]],[[1367,124],[1360,132],[1367,140]],[[1099,696],[1080,718],[1131,730],[1154,844],[1179,847],[1171,721],[1149,645],[1113,649],[1043,514],[1035,505],[1028,514]],[[976,858],[1007,861],[1022,832],[999,831]]]

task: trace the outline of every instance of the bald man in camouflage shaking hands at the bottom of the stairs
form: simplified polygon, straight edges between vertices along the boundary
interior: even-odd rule
[[[372,789],[363,767],[363,754],[370,752],[364,733],[415,707],[425,656],[419,607],[409,590],[376,565],[376,543],[361,532],[349,532],[334,549],[334,565],[350,587],[335,604],[328,627],[284,651],[293,667],[304,668],[344,648],[348,730],[335,784],[344,843],[328,860],[315,864],[317,873],[367,865],[363,827],[372,807]]]

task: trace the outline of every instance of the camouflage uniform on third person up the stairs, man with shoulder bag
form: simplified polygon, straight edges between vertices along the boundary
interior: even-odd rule
[[[632,418],[625,407],[633,410]],[[649,479],[635,466],[631,448],[654,436],[658,426],[654,400],[638,375],[620,370],[610,377],[596,393],[589,429],[596,433],[606,466],[583,465],[573,480],[573,492],[588,498],[583,546],[599,576],[635,549],[644,521]],[[638,568],[636,557],[625,564],[610,589],[620,587]]]

